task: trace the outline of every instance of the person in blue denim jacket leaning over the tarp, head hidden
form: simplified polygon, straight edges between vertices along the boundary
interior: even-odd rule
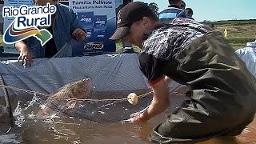
[[[46,42],[45,46],[42,46],[38,39],[34,37],[15,43],[15,48],[20,52],[18,61],[22,61],[26,66],[31,66],[32,57],[53,57],[71,38],[78,42],[86,39],[86,30],[82,28],[76,14],[68,6],[58,3],[56,0],[34,0],[34,2],[38,6],[46,6],[47,3],[50,3],[57,7],[57,11],[51,15],[51,26],[46,27],[53,38]]]

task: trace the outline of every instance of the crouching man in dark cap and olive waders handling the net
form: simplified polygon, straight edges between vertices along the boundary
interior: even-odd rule
[[[188,18],[159,22],[142,2],[131,2],[119,15],[110,39],[141,48],[139,66],[154,93],[149,108],[131,114],[130,122],[146,122],[166,110],[171,81],[190,88],[182,106],[154,127],[151,142],[235,136],[254,120],[256,79],[221,32]]]

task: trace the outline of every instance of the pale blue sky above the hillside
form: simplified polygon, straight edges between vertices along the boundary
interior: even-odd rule
[[[159,12],[168,6],[168,0],[139,1],[157,3]],[[192,8],[194,11],[193,18],[199,22],[204,20],[256,19],[256,0],[184,0],[184,2],[186,2],[186,7]]]

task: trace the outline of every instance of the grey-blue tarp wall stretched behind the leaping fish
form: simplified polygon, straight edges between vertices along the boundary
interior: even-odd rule
[[[6,86],[46,94],[86,77],[92,79],[94,91],[148,89],[135,53],[34,59],[33,65],[26,68],[20,62],[8,60],[0,62],[0,74]]]

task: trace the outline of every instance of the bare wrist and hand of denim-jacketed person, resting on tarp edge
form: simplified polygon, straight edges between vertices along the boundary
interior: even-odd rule
[[[31,66],[33,60],[28,47],[24,43],[19,42],[16,44],[16,48],[20,51],[18,62],[21,61],[22,65]]]

